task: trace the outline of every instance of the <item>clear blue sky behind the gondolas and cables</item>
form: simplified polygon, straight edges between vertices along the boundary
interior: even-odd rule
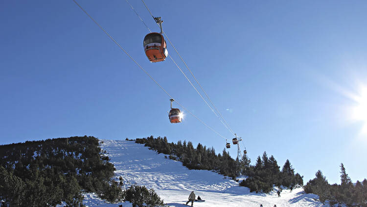
[[[179,103],[233,138],[170,59],[148,61],[149,31],[126,1],[78,2]],[[280,166],[289,159],[305,183],[319,169],[340,183],[341,162],[352,181],[367,177],[366,1],[146,3],[252,162],[264,151]],[[0,144],[154,135],[224,149],[185,111],[170,124],[169,97],[72,0],[1,1],[0,26]]]

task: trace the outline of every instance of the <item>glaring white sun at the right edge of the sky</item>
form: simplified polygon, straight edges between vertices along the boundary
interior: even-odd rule
[[[352,107],[352,119],[363,122],[362,133],[367,134],[367,86],[361,87],[360,93],[354,97],[356,104]]]

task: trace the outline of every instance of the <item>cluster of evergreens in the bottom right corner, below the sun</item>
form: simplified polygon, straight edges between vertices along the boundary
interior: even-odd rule
[[[315,174],[316,178],[303,187],[304,192],[318,195],[317,200],[323,204],[328,202],[330,206],[345,204],[347,207],[367,207],[367,180],[352,183],[343,163],[340,169],[341,184],[329,184],[319,170]]]

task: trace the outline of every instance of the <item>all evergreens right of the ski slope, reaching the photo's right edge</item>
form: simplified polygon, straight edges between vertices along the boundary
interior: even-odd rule
[[[128,140],[128,139],[127,139]],[[251,159],[245,154],[241,160],[234,160],[223,150],[222,154],[216,154],[213,147],[207,148],[202,144],[193,147],[192,142],[178,141],[168,143],[166,137],[136,139],[136,143],[144,144],[149,149],[158,153],[169,155],[170,159],[178,160],[189,169],[211,170],[232,179],[239,175],[247,176],[240,182],[241,186],[249,187],[251,192],[269,193],[274,188],[294,188],[303,186],[303,176],[295,172],[287,159],[280,170],[275,157],[270,157],[266,152],[256,159],[251,165]],[[367,180],[352,183],[346,174],[343,163],[341,164],[341,184],[329,184],[319,170],[316,178],[303,186],[305,193],[314,193],[319,196],[317,200],[328,202],[330,206],[367,207]]]

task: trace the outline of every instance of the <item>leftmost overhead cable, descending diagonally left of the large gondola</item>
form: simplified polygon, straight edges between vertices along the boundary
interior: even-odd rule
[[[124,49],[124,48],[122,48],[122,46],[120,45],[120,44],[118,44],[117,42],[116,42],[116,40],[102,27],[102,26],[100,26],[93,18],[92,18],[92,16],[86,11],[86,10],[84,10],[83,9],[83,7],[78,3],[78,2],[76,2],[76,0],[73,0],[74,1],[74,3],[81,9],[81,10],[83,10],[83,12],[84,13],[86,13],[87,14],[87,16],[89,17],[89,18],[91,18],[91,20],[100,28],[100,29],[102,29],[102,31],[123,51],[123,52],[125,52],[129,57],[130,57],[130,59],[132,59],[134,62],[135,62],[135,64],[137,64],[138,65],[138,67],[142,70],[142,71],[144,71],[144,73],[146,74],[146,75],[148,75],[149,76],[149,78],[151,78],[171,99],[173,99],[173,97],[157,82],[157,80],[155,80],[146,70],[144,70],[144,68]],[[191,111],[189,111],[187,108],[185,108],[183,105],[181,105],[180,103],[178,103],[177,101],[175,101],[178,105],[180,105],[182,108],[184,108],[187,112],[189,112],[193,117],[195,117],[198,121],[200,121],[202,124],[204,124],[207,128],[209,128],[209,129],[211,129],[213,132],[215,132],[216,134],[218,134],[219,136],[221,136],[221,137],[223,137],[223,138],[225,138],[224,136],[222,136],[220,133],[218,133],[216,130],[214,130],[214,129],[212,129],[211,127],[209,127],[205,122],[203,122],[201,119],[199,119],[197,116],[195,116]]]

